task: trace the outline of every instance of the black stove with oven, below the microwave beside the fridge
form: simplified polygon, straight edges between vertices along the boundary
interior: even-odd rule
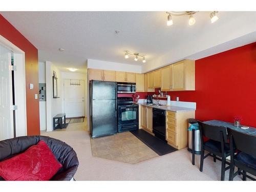
[[[139,105],[133,103],[132,97],[118,97],[118,132],[139,129]]]

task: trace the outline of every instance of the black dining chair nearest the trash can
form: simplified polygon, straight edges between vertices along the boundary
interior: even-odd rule
[[[198,121],[200,137],[201,137],[201,159],[200,159],[200,172],[203,171],[204,159],[208,156],[220,160],[221,163],[221,181],[224,181],[225,171],[229,169],[229,166],[226,167],[226,157],[230,155],[230,147],[228,144],[227,130],[224,126],[214,126]],[[203,137],[209,138],[209,140],[203,140]],[[209,152],[204,156],[204,151]],[[216,157],[219,156],[219,157]]]

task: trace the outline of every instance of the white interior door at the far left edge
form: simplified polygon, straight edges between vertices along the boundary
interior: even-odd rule
[[[11,52],[0,45],[0,140],[14,137]]]

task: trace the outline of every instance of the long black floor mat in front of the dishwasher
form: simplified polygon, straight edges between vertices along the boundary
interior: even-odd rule
[[[130,132],[160,156],[177,151],[176,148],[142,129]]]

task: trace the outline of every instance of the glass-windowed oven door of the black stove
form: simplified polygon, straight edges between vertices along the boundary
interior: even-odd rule
[[[139,122],[139,106],[118,106],[118,124]]]

